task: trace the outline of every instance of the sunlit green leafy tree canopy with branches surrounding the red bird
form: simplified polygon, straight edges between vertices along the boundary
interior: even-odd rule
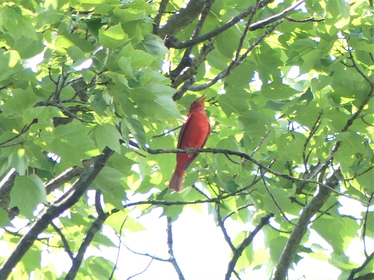
[[[372,2],[3,1],[0,279],[123,279],[89,248],[127,250],[121,236],[155,208],[168,258],[142,254],[184,279],[173,223],[206,205],[231,250],[222,279],[282,280],[305,256],[374,279]],[[203,93],[206,148],[175,149]],[[176,153],[196,151],[171,192]]]

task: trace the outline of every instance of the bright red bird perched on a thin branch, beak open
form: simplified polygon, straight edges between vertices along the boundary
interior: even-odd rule
[[[187,121],[182,125],[178,137],[177,149],[202,148],[211,133],[208,118],[205,113],[205,94],[190,106]],[[186,169],[196,159],[199,153],[177,154],[177,166],[171,176],[169,189],[180,192],[183,186],[183,175]]]

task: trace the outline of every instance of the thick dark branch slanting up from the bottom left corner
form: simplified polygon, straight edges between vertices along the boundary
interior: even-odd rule
[[[37,236],[48,227],[52,219],[58,217],[59,214],[78,202],[112,154],[113,151],[106,147],[103,154],[99,155],[95,163],[87,168],[76,183],[74,183],[72,186],[74,190],[64,197],[61,202],[53,203],[50,208],[45,209],[42,215],[31,225],[30,231],[19,240],[16,248],[0,267],[0,279],[7,279],[12,269],[18,264],[28,249],[30,249]]]

